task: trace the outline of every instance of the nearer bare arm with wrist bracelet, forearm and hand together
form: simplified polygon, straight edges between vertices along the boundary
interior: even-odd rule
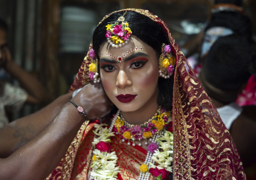
[[[84,108],[88,119],[109,113],[112,103],[102,86],[86,85],[72,100]],[[55,168],[77,134],[85,117],[70,102],[34,139],[9,157],[0,159],[3,179],[44,179]]]

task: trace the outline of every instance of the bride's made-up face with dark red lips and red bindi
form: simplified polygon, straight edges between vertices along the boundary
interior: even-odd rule
[[[100,78],[109,99],[122,112],[158,107],[158,60],[155,51],[138,38],[112,48],[103,43],[99,50]]]

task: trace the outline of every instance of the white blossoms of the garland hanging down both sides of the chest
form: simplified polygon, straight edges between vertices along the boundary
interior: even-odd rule
[[[97,146],[97,144],[101,141],[110,142],[110,136],[114,136],[114,132],[109,132],[107,127],[103,128],[102,126],[106,126],[107,124],[95,124],[96,128],[95,135],[98,137],[94,137],[92,144]],[[152,159],[158,164],[155,165],[149,162],[149,166],[157,169],[165,169],[168,172],[172,172],[171,163],[173,161],[173,134],[167,130],[165,130],[164,135],[159,135],[157,138],[159,142],[159,147],[155,150],[155,153],[152,155]],[[161,151],[160,151],[160,150]],[[94,180],[116,180],[117,173],[120,172],[119,166],[116,166],[117,156],[115,151],[101,152],[99,149],[95,149],[93,151],[93,162],[92,162],[92,171],[90,172],[90,179]],[[145,164],[144,164],[145,165]],[[147,169],[147,172],[149,169]],[[147,176],[146,179],[148,179]],[[156,179],[161,179],[162,174],[160,174]],[[144,178],[145,179],[145,178]]]

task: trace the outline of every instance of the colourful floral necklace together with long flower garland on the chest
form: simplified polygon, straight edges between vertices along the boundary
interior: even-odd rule
[[[93,150],[90,179],[117,179],[117,173],[120,172],[119,166],[116,166],[118,157],[115,151],[110,152],[111,145],[109,143],[110,136],[114,136],[114,132],[123,137],[124,140],[122,139],[122,142],[128,140],[128,145],[131,144],[129,144],[130,139],[133,141],[139,139],[140,141],[143,138],[146,139],[147,143],[145,144],[147,145],[149,144],[147,138],[149,138],[149,151],[144,163],[140,166],[139,179],[149,179],[150,174],[155,179],[167,179],[169,172],[172,172],[173,134],[164,130],[164,127],[172,125],[170,115],[169,111],[166,112],[164,109],[159,108],[157,113],[147,122],[140,125],[132,125],[120,117],[120,110],[118,110],[112,119],[109,129],[107,127],[103,128],[107,124],[95,124],[94,127],[96,129],[93,132],[98,137],[94,137],[92,143],[95,149]],[[112,132],[112,129],[114,132]],[[150,134],[150,136],[146,135],[146,133]],[[131,138],[127,134],[130,134]],[[135,142],[132,145],[135,146]],[[139,143],[138,145],[141,144]]]

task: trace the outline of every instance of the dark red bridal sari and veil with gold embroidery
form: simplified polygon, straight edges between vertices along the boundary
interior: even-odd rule
[[[229,131],[167,26],[157,16],[145,10],[120,11],[135,11],[161,25],[169,37],[171,49],[176,57],[172,108],[173,179],[246,179]],[[87,53],[70,91],[91,82],[88,70],[91,61]],[[82,126],[65,157],[48,179],[87,179],[92,158],[92,136],[92,124],[87,128]],[[123,168],[118,178],[136,179],[137,163],[144,161],[145,150],[128,147],[119,142],[118,137],[113,139],[111,147],[119,154],[118,165]]]

